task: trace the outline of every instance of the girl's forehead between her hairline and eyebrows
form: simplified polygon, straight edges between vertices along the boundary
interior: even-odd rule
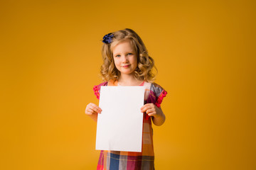
[[[134,44],[132,43],[132,40],[122,40],[120,42],[117,42],[112,47],[112,52],[113,53],[130,52],[130,51],[135,51],[135,47],[134,47]]]

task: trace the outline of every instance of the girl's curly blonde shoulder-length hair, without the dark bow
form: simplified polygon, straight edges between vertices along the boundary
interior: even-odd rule
[[[100,67],[100,74],[102,75],[103,81],[118,80],[120,77],[119,70],[114,65],[114,58],[112,54],[112,49],[115,45],[123,40],[131,40],[135,51],[137,52],[137,68],[134,70],[134,76],[136,79],[144,80],[148,82],[153,82],[155,79],[155,74],[153,74],[152,69],[154,66],[154,60],[151,58],[146,50],[142,39],[135,33],[134,30],[126,28],[124,30],[117,30],[112,33],[112,42],[103,43],[102,45],[102,60],[103,64]],[[156,69],[157,72],[157,69]]]

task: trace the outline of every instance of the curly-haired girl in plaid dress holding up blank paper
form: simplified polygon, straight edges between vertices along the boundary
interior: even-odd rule
[[[101,151],[98,170],[140,170],[154,169],[153,130],[154,125],[162,125],[165,115],[160,104],[167,92],[153,83],[154,60],[149,57],[142,39],[131,29],[109,33],[102,40],[103,64],[100,73],[105,82],[94,86],[97,98],[100,98],[101,86],[145,86],[145,101],[141,111],[144,113],[142,152]],[[89,103],[85,113],[97,121],[101,109]]]

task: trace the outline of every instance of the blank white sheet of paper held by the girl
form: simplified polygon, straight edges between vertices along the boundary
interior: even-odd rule
[[[144,86],[101,86],[96,149],[142,152]]]

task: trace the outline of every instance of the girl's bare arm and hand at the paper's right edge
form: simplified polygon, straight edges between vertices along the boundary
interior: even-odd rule
[[[153,116],[154,125],[160,126],[164,124],[166,119],[161,108],[156,107],[153,103],[147,103],[141,108],[142,113],[146,112],[149,116]]]

